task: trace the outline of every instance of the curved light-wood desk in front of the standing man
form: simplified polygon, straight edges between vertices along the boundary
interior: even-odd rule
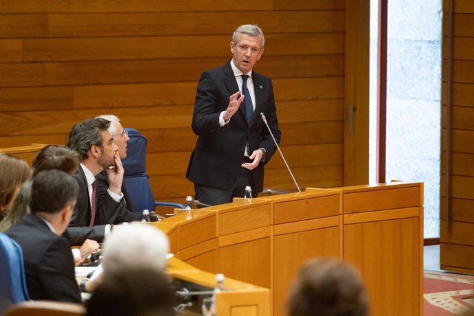
[[[176,262],[197,268],[194,276],[200,269],[241,281],[234,288],[240,299],[217,299],[219,316],[285,315],[291,281],[315,256],[361,271],[371,315],[422,315],[422,192],[422,183],[404,182],[307,188],[250,203],[235,199],[153,225],[168,234]],[[201,282],[212,286],[214,279]],[[252,291],[268,301],[257,302]]]

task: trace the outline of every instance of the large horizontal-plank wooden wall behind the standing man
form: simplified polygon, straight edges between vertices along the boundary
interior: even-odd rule
[[[295,177],[342,185],[345,3],[0,0],[0,146],[64,144],[76,122],[113,113],[148,137],[155,196],[182,202],[194,192],[185,171],[199,76],[232,57],[235,27],[257,23],[266,45],[255,69],[273,79]],[[278,155],[265,187],[294,188]]]

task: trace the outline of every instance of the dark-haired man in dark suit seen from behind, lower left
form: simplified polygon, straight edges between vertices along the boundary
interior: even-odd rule
[[[32,300],[80,302],[69,242],[61,236],[76,204],[78,183],[58,170],[40,172],[32,182],[31,214],[5,233],[23,251]]]

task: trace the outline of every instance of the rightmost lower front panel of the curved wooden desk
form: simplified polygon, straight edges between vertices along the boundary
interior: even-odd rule
[[[422,271],[418,266],[422,240],[420,219],[344,225],[343,234],[344,260],[354,264],[363,276],[369,293],[370,314],[414,315],[414,311],[418,312],[422,302]],[[372,255],[366,256],[367,253]]]

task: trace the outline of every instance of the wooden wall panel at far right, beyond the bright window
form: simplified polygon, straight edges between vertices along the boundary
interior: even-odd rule
[[[473,1],[453,1],[452,30],[448,19],[449,1],[444,0],[443,6],[446,18],[442,51],[440,264],[441,269],[473,273],[474,4]],[[450,34],[453,36],[451,57]],[[452,65],[451,82],[448,81],[449,65]]]

